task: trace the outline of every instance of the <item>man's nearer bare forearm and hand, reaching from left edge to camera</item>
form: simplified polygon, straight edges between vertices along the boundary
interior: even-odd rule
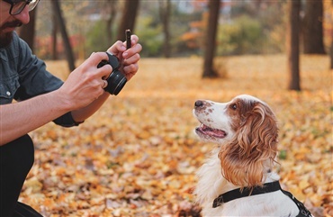
[[[59,116],[85,108],[104,94],[102,77],[111,66],[96,68],[103,52],[94,53],[76,68],[58,90],[15,104],[0,105],[0,145],[17,139]]]

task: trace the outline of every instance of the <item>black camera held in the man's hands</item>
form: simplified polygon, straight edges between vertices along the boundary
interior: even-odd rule
[[[102,60],[97,68],[101,68],[106,64],[110,64],[112,66],[112,73],[105,80],[108,83],[108,86],[104,88],[105,91],[109,92],[111,95],[118,95],[121,92],[123,86],[125,86],[127,82],[127,78],[123,73],[121,73],[118,68],[121,66],[119,63],[119,59],[112,55],[112,53],[106,52],[109,57],[109,60]]]

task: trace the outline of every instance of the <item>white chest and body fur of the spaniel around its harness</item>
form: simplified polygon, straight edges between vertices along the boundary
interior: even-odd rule
[[[212,208],[214,199],[221,193],[238,188],[222,176],[217,152],[214,152],[202,165],[197,172],[197,177],[198,183],[194,194],[196,194],[197,202],[202,205],[202,216],[296,216],[299,212],[295,203],[282,192],[255,195]],[[273,181],[278,180],[279,176],[272,173],[266,178]]]

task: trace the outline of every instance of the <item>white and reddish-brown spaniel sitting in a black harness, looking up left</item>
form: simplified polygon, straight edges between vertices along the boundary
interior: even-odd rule
[[[203,216],[312,216],[273,172],[278,127],[266,103],[250,95],[198,100],[193,115],[201,122],[195,133],[218,144],[197,172]]]

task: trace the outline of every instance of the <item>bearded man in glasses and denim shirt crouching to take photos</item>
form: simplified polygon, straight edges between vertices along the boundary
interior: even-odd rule
[[[39,0],[0,0],[0,216],[41,216],[17,202],[23,182],[33,164],[33,143],[27,135],[47,122],[76,126],[95,113],[109,97],[103,79],[110,65],[105,52],[93,53],[70,73],[65,82],[52,76],[45,64],[31,54],[14,32],[29,23],[29,11]],[[108,50],[121,61],[127,79],[138,71],[141,45],[136,35],[126,50],[117,41]],[[17,103],[12,104],[13,100]]]

